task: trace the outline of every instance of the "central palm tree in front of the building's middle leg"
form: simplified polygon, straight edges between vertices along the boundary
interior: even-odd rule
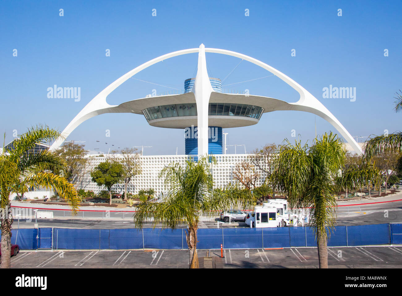
[[[189,247],[189,267],[198,268],[197,229],[202,213],[213,215],[214,211],[228,209],[240,202],[243,208],[251,205],[248,190],[237,186],[213,189],[213,179],[209,169],[217,161],[213,156],[199,157],[197,162],[191,159],[184,167],[170,164],[161,172],[165,184],[170,190],[164,202],[145,202],[137,206],[134,215],[135,227],[142,228],[146,219],[153,218],[153,227],[162,224],[162,228],[174,229],[179,224],[187,223],[186,241]]]

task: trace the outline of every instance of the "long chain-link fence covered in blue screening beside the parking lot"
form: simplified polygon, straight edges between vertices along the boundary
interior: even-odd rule
[[[317,246],[309,227],[281,228],[201,228],[198,249],[289,248]],[[21,250],[127,250],[187,249],[186,229],[125,228],[31,228],[13,229],[12,244]],[[369,246],[402,244],[402,224],[335,226],[328,246]]]

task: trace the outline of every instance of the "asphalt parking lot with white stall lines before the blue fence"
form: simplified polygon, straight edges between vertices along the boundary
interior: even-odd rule
[[[208,252],[209,251],[209,252]],[[213,268],[318,268],[317,248],[198,250]],[[207,261],[208,259],[206,259]],[[21,251],[12,268],[188,268],[187,250]],[[332,268],[401,268],[402,246],[328,248]],[[207,264],[205,264],[207,266]]]

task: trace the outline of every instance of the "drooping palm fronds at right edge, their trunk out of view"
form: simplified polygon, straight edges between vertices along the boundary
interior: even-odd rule
[[[399,90],[400,91],[400,90]],[[394,110],[395,112],[402,111],[402,91],[396,92],[396,99]],[[402,153],[402,132],[394,132],[389,135],[381,135],[366,141],[364,147],[365,159],[369,160],[373,156],[380,155],[382,153]],[[398,159],[398,165],[396,170],[402,173],[402,154]]]

